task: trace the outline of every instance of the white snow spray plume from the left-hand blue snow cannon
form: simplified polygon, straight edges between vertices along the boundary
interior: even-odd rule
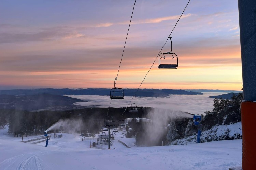
[[[83,126],[83,121],[81,119],[60,119],[58,122],[49,127],[51,130],[65,130],[67,133],[75,133],[80,131]]]

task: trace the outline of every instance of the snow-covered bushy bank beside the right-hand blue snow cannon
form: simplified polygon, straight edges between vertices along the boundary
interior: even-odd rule
[[[203,142],[209,142],[209,141],[230,140],[230,139],[242,139],[241,122],[237,122],[230,125],[214,126],[212,129],[201,133],[200,142],[203,143]],[[171,142],[171,145],[191,144],[191,143],[196,143],[196,141],[197,141],[197,134],[193,136],[189,136],[187,138],[175,140]]]

